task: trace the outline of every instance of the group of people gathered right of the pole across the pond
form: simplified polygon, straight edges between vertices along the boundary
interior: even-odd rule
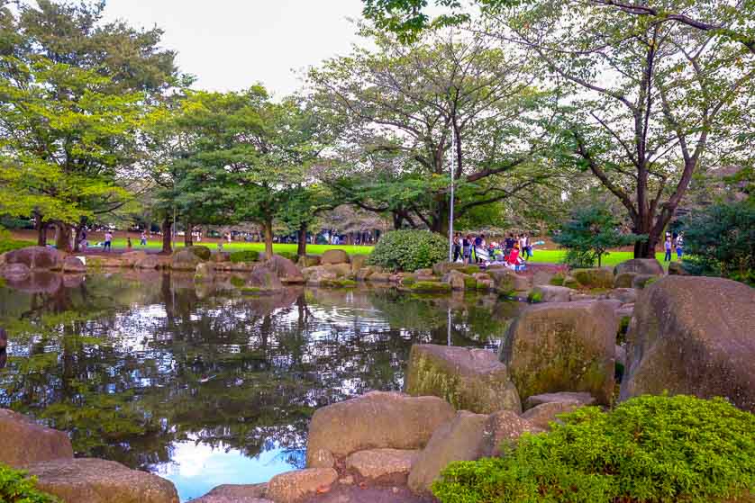
[[[462,236],[459,232],[453,237],[453,261],[464,264],[490,265],[503,263],[512,269],[524,266],[532,256],[532,242],[526,234],[509,234],[503,242],[487,242],[484,234],[473,237]]]

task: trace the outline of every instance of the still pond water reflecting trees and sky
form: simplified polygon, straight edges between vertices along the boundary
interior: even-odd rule
[[[255,298],[177,274],[37,274],[0,287],[0,407],[67,431],[77,456],[173,481],[187,501],[304,467],[315,409],[401,390],[414,343],[493,349],[519,309],[388,288]]]

